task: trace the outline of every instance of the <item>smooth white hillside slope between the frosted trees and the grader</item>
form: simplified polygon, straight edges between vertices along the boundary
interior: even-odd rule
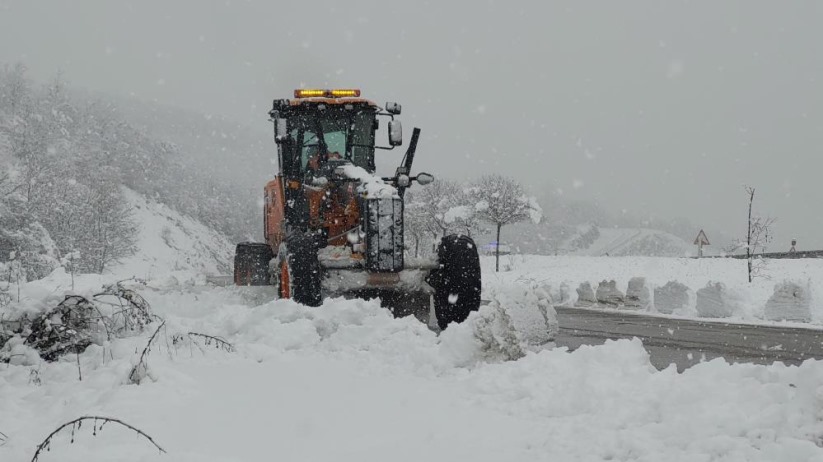
[[[233,245],[220,233],[168,206],[126,190],[139,226],[138,251],[112,271],[151,279],[172,271],[228,274]]]

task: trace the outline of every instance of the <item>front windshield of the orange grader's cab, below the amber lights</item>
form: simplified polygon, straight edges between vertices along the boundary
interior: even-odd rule
[[[331,111],[311,113],[292,119],[291,136],[296,161],[305,172],[313,158],[347,159],[374,171],[374,115],[370,112]]]

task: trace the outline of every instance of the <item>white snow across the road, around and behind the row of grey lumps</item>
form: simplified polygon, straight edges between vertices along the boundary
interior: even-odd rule
[[[768,260],[761,272],[750,284],[747,279],[746,261],[725,258],[659,258],[659,257],[569,257],[512,255],[501,257],[501,268],[494,272],[494,258],[482,257],[484,283],[509,284],[520,281],[551,287],[555,303],[574,304],[576,289],[584,282],[597,288],[601,281],[614,280],[617,289],[625,293],[634,277],[645,278],[651,295],[670,281],[676,281],[689,289],[689,303],[675,315],[698,317],[696,292],[708,284],[723,285],[723,300],[728,305],[727,319],[758,321],[766,318],[766,305],[775,293],[775,286],[803,287],[806,297],[802,300],[810,312],[811,322],[823,324],[823,259]],[[564,288],[569,298],[560,300]],[[655,312],[654,300],[648,307]],[[789,309],[789,308],[787,308]],[[774,311],[774,310],[772,310]],[[772,315],[772,313],[768,313]],[[796,316],[787,317],[794,319]]]

